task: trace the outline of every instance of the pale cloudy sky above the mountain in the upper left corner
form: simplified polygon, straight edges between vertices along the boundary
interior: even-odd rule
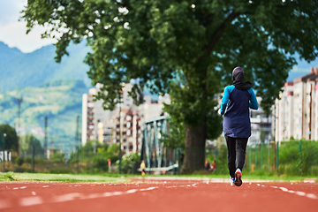
[[[56,42],[53,39],[41,39],[43,27],[34,27],[26,34],[27,23],[19,21],[19,11],[22,11],[25,5],[27,0],[0,0],[0,42],[11,48],[16,47],[24,53]]]

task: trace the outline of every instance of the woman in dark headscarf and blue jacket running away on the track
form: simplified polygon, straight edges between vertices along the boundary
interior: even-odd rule
[[[220,114],[224,115],[223,133],[227,145],[231,186],[241,186],[246,145],[251,136],[249,109],[257,110],[259,104],[252,83],[244,82],[243,68],[234,68],[232,79],[233,84],[224,89]]]

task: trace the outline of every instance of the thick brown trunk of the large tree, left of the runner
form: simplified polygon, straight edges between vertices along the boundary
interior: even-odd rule
[[[182,174],[204,169],[206,134],[205,122],[186,128],[186,154],[181,167]]]

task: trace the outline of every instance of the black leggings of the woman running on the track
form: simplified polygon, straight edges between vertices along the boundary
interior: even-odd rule
[[[238,168],[243,170],[246,158],[246,145],[248,138],[231,138],[225,136],[226,145],[228,149],[228,167],[231,178],[234,178],[235,170]]]

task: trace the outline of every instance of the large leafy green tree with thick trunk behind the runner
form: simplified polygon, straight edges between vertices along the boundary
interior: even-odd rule
[[[192,171],[203,168],[205,142],[219,133],[215,96],[231,70],[244,68],[269,111],[294,54],[317,56],[317,8],[315,0],[28,0],[22,19],[27,32],[42,25],[50,28],[43,37],[61,35],[57,62],[70,42],[87,39],[88,76],[102,83],[96,97],[105,108],[132,79],[133,96],[145,86],[170,92],[173,82],[168,110],[186,126],[183,170]]]

